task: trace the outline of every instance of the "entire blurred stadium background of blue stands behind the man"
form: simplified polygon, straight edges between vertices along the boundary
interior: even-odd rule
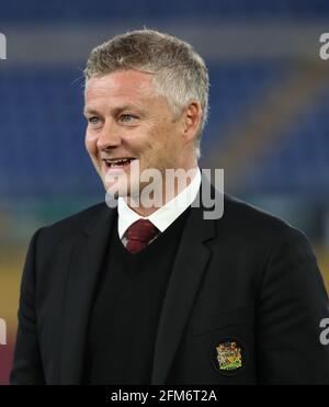
[[[83,147],[86,59],[94,45],[143,26],[191,42],[209,66],[201,167],[224,168],[226,191],[304,230],[329,285],[329,60],[319,58],[328,0],[2,2],[0,384],[32,234],[104,199]]]

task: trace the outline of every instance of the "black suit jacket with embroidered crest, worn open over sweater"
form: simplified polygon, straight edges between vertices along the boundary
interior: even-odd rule
[[[204,181],[203,181],[204,185]],[[22,278],[12,384],[81,383],[91,302],[116,210],[39,229]],[[329,384],[328,296],[305,235],[225,195],[192,207],[159,319],[152,384]],[[239,369],[217,347],[236,343]],[[226,348],[225,348],[226,347]]]

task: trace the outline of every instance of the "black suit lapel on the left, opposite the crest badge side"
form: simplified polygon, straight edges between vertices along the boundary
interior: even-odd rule
[[[81,381],[88,318],[114,215],[115,211],[104,205],[98,217],[87,225],[73,247],[66,284],[61,384],[79,384]]]

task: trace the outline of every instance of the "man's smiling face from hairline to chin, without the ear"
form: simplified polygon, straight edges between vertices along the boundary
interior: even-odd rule
[[[181,168],[182,121],[173,121],[167,99],[156,95],[151,75],[127,70],[89,79],[84,114],[86,147],[106,190],[113,188],[113,176],[116,186],[128,176],[128,195],[144,186],[134,174],[129,180],[132,161],[114,159],[138,159],[140,173]]]

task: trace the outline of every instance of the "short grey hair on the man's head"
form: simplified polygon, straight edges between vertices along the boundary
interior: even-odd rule
[[[191,100],[200,102],[201,123],[195,136],[200,158],[201,135],[208,115],[208,71],[193,47],[177,37],[154,30],[131,31],[91,50],[84,69],[86,80],[117,70],[135,69],[154,74],[158,94],[167,98],[178,118]]]

